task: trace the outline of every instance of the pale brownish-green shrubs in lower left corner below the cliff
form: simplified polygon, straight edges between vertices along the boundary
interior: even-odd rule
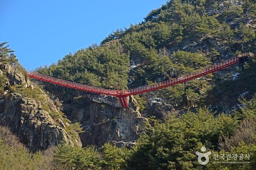
[[[0,169],[59,169],[53,162],[54,149],[30,153],[19,138],[0,126]]]

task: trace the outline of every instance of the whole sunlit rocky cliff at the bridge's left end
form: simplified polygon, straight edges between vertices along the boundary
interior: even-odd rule
[[[40,88],[37,87],[38,91],[35,91],[33,83],[26,79],[22,71],[3,63],[0,63],[0,70],[0,125],[10,127],[31,151],[43,150],[60,143],[82,146],[78,135],[74,139],[67,134],[61,119],[56,121],[50,116],[50,112],[58,114],[59,108],[54,106],[53,101]],[[22,94],[14,92],[18,87]],[[33,93],[32,96],[38,93],[37,96],[46,101],[47,107],[43,107],[42,101],[38,99],[26,97],[30,96],[29,92]],[[49,110],[46,111],[45,108],[48,107]]]

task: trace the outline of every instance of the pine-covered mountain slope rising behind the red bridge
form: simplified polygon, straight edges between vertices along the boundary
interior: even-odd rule
[[[255,28],[253,1],[167,1],[142,23],[111,33],[101,45],[68,54],[58,63],[38,70],[93,86],[119,90],[138,87],[176,78],[240,52],[255,52]],[[249,97],[255,92],[254,83],[240,83],[244,76],[253,78],[243,74],[250,72],[249,65],[247,71],[231,67],[136,98],[142,109],[146,107],[145,116],[159,118],[161,113],[151,108],[158,103],[165,112],[183,112],[204,105],[229,111],[239,95],[249,92]],[[233,88],[227,88],[229,83],[234,84]],[[57,90],[64,92],[62,87]],[[67,95],[74,98],[81,94],[84,93],[65,92],[62,100],[65,103]]]

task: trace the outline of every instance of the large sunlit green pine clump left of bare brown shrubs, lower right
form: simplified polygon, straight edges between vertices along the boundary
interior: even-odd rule
[[[207,108],[171,118],[165,123],[156,123],[153,131],[139,138],[128,166],[135,169],[183,169],[195,158],[193,149],[197,149],[199,143],[216,149],[218,137],[229,134],[234,127],[236,120],[231,116],[214,116]],[[193,156],[187,157],[188,154]],[[198,162],[197,165],[192,164],[192,167],[196,166]]]

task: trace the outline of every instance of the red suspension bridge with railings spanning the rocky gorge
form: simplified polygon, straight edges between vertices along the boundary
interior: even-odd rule
[[[120,101],[122,107],[128,107],[128,103],[127,103],[127,99],[126,99],[127,96],[136,95],[136,94],[140,94],[140,93],[144,93],[144,92],[148,92],[148,91],[154,91],[154,90],[157,90],[160,88],[173,86],[178,83],[184,83],[189,80],[196,79],[200,76],[204,76],[204,75],[210,74],[212,72],[221,70],[223,68],[229,67],[238,62],[243,62],[248,57],[254,57],[254,54],[252,54],[251,52],[238,54],[237,56],[234,56],[233,58],[227,59],[221,63],[214,64],[213,66],[203,68],[203,69],[198,70],[193,73],[189,73],[189,74],[186,74],[183,76],[179,76],[177,78],[159,82],[157,84],[142,86],[142,87],[133,88],[133,89],[129,89],[129,90],[111,90],[111,89],[106,89],[106,88],[93,87],[93,86],[88,86],[85,84],[69,82],[67,80],[54,78],[52,76],[40,74],[40,73],[37,73],[34,71],[27,71],[27,75],[31,78],[38,79],[38,80],[48,82],[48,83],[52,83],[52,84],[57,84],[59,86],[69,87],[69,88],[87,91],[87,92],[93,92],[93,93],[97,93],[97,94],[115,96],[115,97],[119,98],[119,101]]]

